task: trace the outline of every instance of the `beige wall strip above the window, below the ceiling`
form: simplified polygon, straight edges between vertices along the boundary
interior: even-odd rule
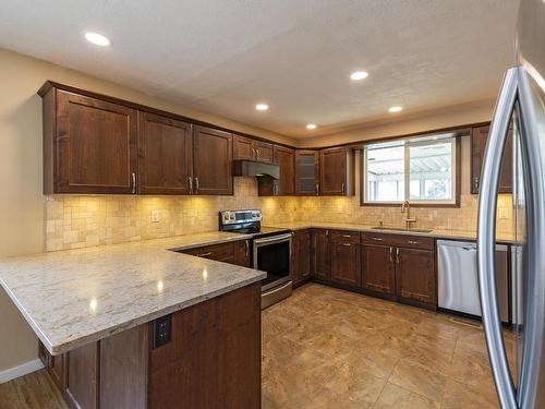
[[[494,100],[482,100],[434,111],[419,112],[414,116],[401,116],[399,120],[377,121],[365,127],[354,128],[325,136],[301,141],[300,146],[323,147],[336,144],[399,136],[436,129],[470,123],[486,122],[492,118]]]

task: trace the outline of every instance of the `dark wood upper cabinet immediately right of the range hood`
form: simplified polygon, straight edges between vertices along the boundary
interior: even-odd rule
[[[274,151],[280,178],[257,178],[259,196],[292,196],[295,194],[295,149],[275,145]]]

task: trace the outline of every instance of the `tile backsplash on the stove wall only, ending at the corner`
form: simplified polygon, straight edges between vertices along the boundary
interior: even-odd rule
[[[233,196],[70,196],[46,200],[47,251],[158,239],[218,229],[218,212],[261,208],[264,222],[292,221],[296,197],[259,197],[255,178],[235,178]],[[152,210],[159,222],[152,222]]]

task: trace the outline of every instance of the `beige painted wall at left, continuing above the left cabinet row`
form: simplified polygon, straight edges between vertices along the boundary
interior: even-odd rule
[[[134,100],[278,142],[282,135],[175,106],[136,91],[0,49],[0,256],[45,248],[45,197],[41,194],[41,99],[46,80]],[[93,240],[93,239],[92,239]],[[37,339],[0,289],[0,372],[37,357]]]

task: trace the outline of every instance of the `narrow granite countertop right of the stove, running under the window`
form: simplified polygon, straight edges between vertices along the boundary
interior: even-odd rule
[[[373,228],[374,226],[372,225],[341,224],[341,222],[328,222],[328,221],[291,221],[291,222],[271,224],[270,226],[279,229],[291,229],[291,230],[301,230],[314,227],[323,229],[371,231],[375,233],[425,236],[425,237],[433,237],[436,239],[453,239],[453,240],[470,240],[470,241],[476,240],[476,230],[435,229],[428,232],[414,231],[414,230],[379,230],[379,229],[374,229]],[[513,233],[506,233],[506,232],[498,233],[496,240],[501,243],[517,242]]]

